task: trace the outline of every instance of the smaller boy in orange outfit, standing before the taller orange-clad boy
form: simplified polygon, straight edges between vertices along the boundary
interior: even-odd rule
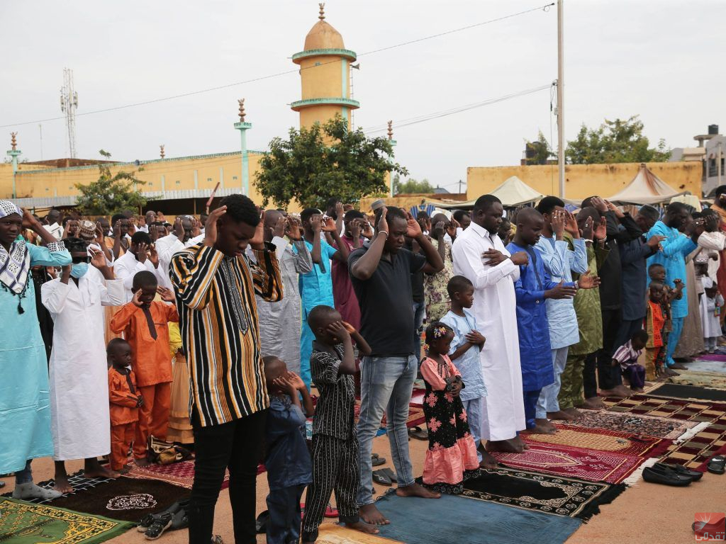
[[[139,406],[144,399],[136,393],[136,376],[131,370],[131,346],[123,338],[114,338],[106,347],[108,401],[111,413],[111,470],[128,471],[131,442],[134,442]]]

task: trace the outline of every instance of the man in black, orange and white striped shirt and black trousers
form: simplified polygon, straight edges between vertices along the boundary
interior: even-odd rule
[[[229,468],[234,540],[252,544],[257,463],[269,407],[255,294],[280,300],[282,279],[253,202],[233,194],[220,204],[206,221],[204,241],[174,255],[169,270],[191,382],[196,462],[189,543],[211,542],[214,506]],[[256,265],[245,258],[248,245]]]

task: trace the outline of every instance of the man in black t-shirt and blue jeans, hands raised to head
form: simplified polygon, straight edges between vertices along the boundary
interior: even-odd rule
[[[404,249],[406,236],[415,239],[423,255]],[[351,253],[348,270],[361,307],[361,334],[371,355],[361,361],[361,412],[358,422],[360,516],[372,524],[387,524],[372,496],[372,441],[383,413],[387,415],[391,457],[399,482],[396,494],[439,498],[414,481],[408,452],[409,402],[417,374],[414,355],[414,311],[411,275],[444,268],[439,252],[419,224],[399,208],[383,207],[376,214],[375,236]]]

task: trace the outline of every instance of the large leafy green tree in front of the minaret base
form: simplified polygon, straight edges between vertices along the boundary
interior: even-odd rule
[[[362,197],[386,191],[386,173],[407,174],[393,157],[386,138],[368,138],[336,115],[325,125],[315,123],[299,131],[290,128],[288,139],[274,138],[260,160],[257,189],[264,205],[270,201],[287,207],[295,199],[303,207],[325,209],[336,197],[354,204]]]

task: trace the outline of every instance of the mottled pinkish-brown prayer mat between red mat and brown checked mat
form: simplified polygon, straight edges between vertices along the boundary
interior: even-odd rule
[[[632,434],[648,434],[651,437],[666,438],[668,440],[675,440],[688,429],[693,429],[698,425],[696,421],[680,421],[657,416],[636,416],[633,413],[584,410],[582,408],[579,411],[582,413],[582,418],[576,421],[567,421],[566,424],[590,429],[610,429]],[[565,423],[564,421],[557,422]]]

